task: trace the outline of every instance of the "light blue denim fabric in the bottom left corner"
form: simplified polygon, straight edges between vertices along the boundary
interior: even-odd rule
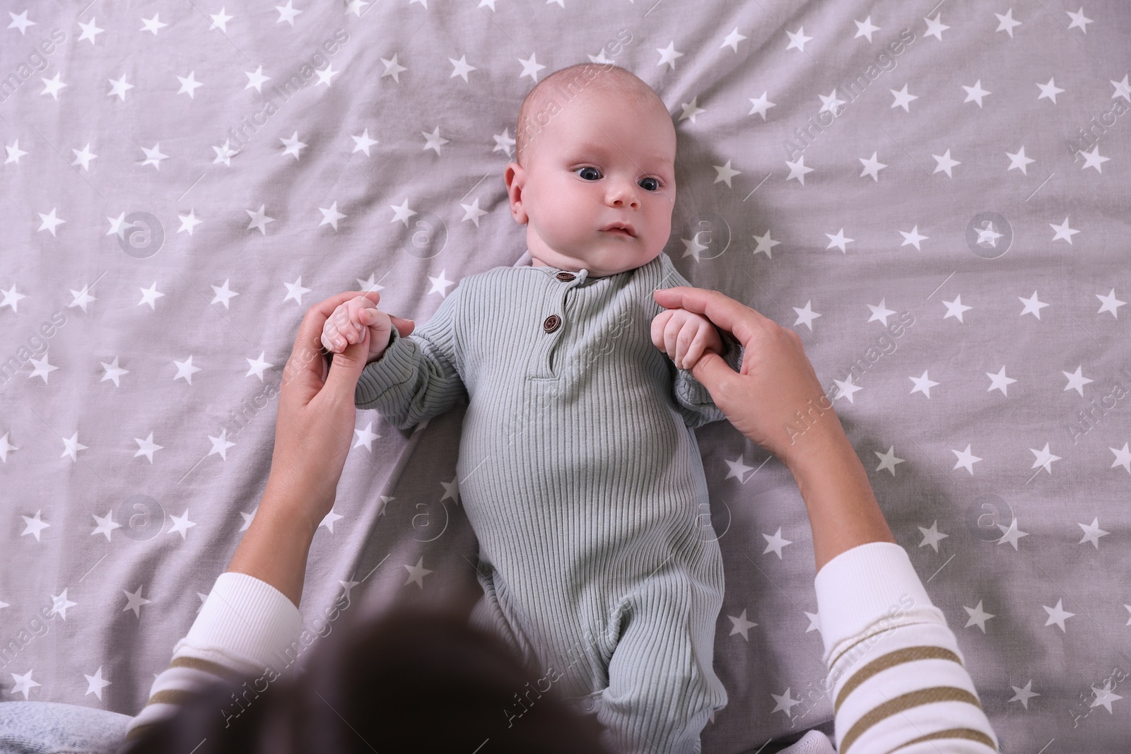
[[[0,703],[0,754],[113,754],[130,716],[57,702]]]

